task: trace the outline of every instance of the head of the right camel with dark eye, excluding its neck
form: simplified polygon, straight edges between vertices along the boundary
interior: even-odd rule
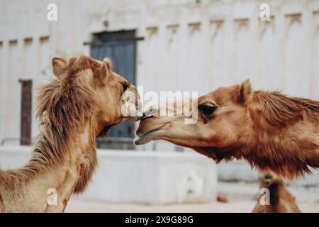
[[[246,143],[250,133],[247,102],[251,96],[252,87],[249,80],[240,86],[221,87],[201,96],[198,98],[195,112],[197,121],[194,123],[186,123],[189,116],[185,115],[162,116],[162,108],[159,108],[158,116],[142,118],[137,131],[140,138],[135,144],[162,139],[205,153],[209,148],[235,147]],[[178,105],[167,106],[169,109],[172,106],[177,108]]]

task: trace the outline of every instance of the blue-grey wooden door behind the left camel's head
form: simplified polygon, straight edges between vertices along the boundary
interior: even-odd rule
[[[135,84],[135,31],[99,33],[94,38],[95,41],[91,44],[91,57],[96,60],[110,57],[114,63],[113,71]],[[133,138],[134,123],[125,122],[119,126],[113,126],[109,135],[117,138]]]

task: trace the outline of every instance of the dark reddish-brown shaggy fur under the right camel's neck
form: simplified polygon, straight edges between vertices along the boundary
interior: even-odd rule
[[[289,130],[287,130],[289,131]],[[287,132],[286,131],[286,132]],[[314,135],[314,134],[313,134]],[[274,139],[275,138],[275,139]],[[309,174],[309,167],[319,167],[319,144],[316,138],[292,132],[255,140],[242,148],[242,157],[259,170],[272,170],[294,179]]]

